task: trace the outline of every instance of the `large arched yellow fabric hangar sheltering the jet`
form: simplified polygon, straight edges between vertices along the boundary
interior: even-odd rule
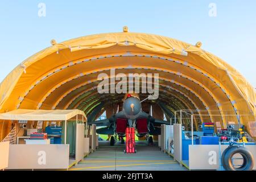
[[[159,99],[145,101],[144,105],[165,105],[172,114],[179,109],[228,113],[229,117],[210,119],[220,120],[224,126],[241,119],[253,134],[249,125],[256,117],[253,86],[236,69],[200,46],[126,31],[53,41],[51,47],[23,61],[2,81],[1,113],[80,109],[90,115],[100,104],[105,109],[114,108],[123,94],[99,94],[97,76],[115,68],[116,73],[159,73]],[[97,115],[101,113],[102,109]]]

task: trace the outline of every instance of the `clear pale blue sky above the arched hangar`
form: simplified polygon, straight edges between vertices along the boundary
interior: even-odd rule
[[[46,16],[39,16],[39,3]],[[210,3],[215,3],[216,11]],[[209,16],[209,11],[217,16]],[[213,15],[211,14],[211,15]],[[27,57],[57,42],[104,32],[164,35],[202,48],[256,87],[256,1],[0,0],[0,81]]]

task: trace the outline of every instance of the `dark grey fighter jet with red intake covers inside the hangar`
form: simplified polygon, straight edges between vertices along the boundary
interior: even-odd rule
[[[117,135],[125,137],[126,127],[134,127],[138,137],[145,135],[160,135],[160,125],[170,125],[170,122],[153,118],[142,110],[141,100],[137,94],[126,94],[123,99],[122,110],[108,119],[89,121],[88,125],[105,126],[97,129],[97,134]],[[114,145],[114,137],[110,138],[110,145]]]

